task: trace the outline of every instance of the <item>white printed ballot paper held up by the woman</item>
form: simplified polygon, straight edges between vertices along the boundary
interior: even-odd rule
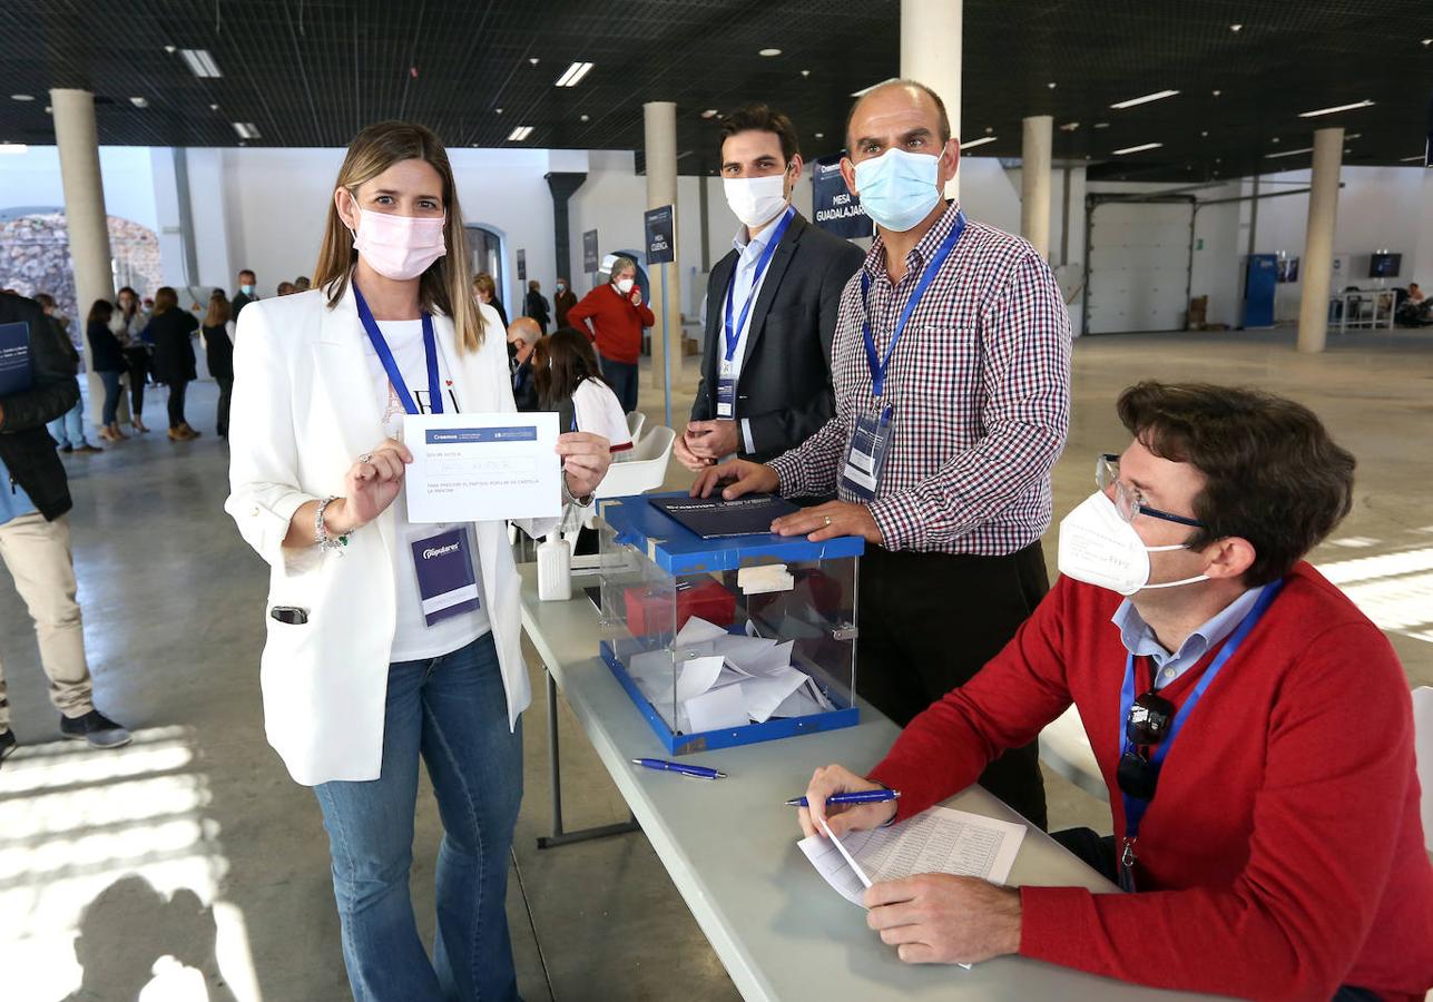
[[[553,519],[562,515],[557,414],[408,414],[410,522]]]

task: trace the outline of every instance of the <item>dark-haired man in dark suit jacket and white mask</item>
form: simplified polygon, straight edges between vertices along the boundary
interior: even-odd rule
[[[765,105],[729,115],[721,163],[742,228],[706,284],[702,380],[675,446],[694,472],[780,456],[830,420],[835,312],[866,257],[791,206],[801,153],[785,115]]]

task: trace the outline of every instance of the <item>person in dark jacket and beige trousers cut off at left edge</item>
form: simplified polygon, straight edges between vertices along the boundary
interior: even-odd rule
[[[44,430],[75,406],[80,387],[39,302],[0,292],[0,324],[11,323],[30,328],[30,388],[0,397],[0,560],[34,621],[50,702],[60,712],[60,735],[92,748],[118,748],[129,744],[130,735],[95,708],[85,625],[75,602],[69,479]],[[0,761],[17,744],[0,665]]]

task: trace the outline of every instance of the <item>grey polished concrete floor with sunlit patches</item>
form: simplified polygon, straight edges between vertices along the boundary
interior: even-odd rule
[[[1274,331],[1079,343],[1056,510],[1091,490],[1096,452],[1122,447],[1113,400],[1132,381],[1294,396],[1360,460],[1356,510],[1314,559],[1384,628],[1410,682],[1433,684],[1433,338],[1348,335],[1318,357],[1291,341]],[[679,413],[694,373],[688,360]],[[191,420],[212,430],[212,386],[196,386],[191,401]],[[649,423],[662,419],[656,391],[643,387],[643,404]],[[149,411],[158,423],[162,400]],[[96,694],[135,728],[130,748],[59,743],[29,618],[0,575],[0,655],[24,744],[0,768],[6,999],[348,998],[318,810],[264,741],[267,575],[221,510],[225,463],[212,434],[173,446],[162,433],[66,459]],[[675,466],[669,485],[685,485]],[[540,667],[529,655],[539,695],[524,724],[527,796],[509,896],[524,998],[737,998],[641,834],[536,849],[550,808]],[[623,820],[573,718],[563,710],[559,721],[567,826]],[[428,790],[420,796],[413,897],[431,936],[438,824]],[[1103,803],[1056,777],[1050,820],[1109,827]]]

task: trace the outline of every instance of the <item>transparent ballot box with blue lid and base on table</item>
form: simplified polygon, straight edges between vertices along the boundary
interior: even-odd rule
[[[685,497],[685,495],[682,495]],[[702,538],[599,502],[602,659],[672,754],[857,722],[860,538]]]

